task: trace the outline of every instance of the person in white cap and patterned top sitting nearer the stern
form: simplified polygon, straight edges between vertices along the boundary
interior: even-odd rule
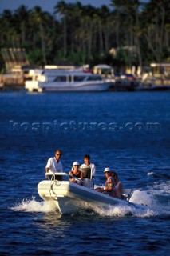
[[[107,167],[104,170],[105,178],[107,178],[104,187],[97,187],[95,190],[102,192],[104,194],[109,194],[114,196],[114,179],[111,175],[111,170]]]

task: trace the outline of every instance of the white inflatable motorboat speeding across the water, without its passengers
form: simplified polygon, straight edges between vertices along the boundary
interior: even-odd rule
[[[129,202],[132,196],[131,189],[122,191],[124,199],[121,200],[94,190],[93,181],[88,178],[83,179],[83,185],[81,186],[69,182],[70,175],[66,173],[55,173],[53,175],[47,173],[46,175],[51,179],[39,182],[38,194],[45,202],[55,206],[60,214],[74,214],[80,209],[93,209],[95,206],[103,208],[118,205],[146,207]],[[61,175],[62,180],[55,179],[56,175]]]

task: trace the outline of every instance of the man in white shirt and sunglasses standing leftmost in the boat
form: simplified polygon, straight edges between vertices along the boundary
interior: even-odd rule
[[[61,150],[56,150],[55,156],[53,158],[49,158],[45,167],[46,173],[53,175],[53,173],[63,172],[62,164],[60,161],[61,155],[62,155]],[[61,175],[56,175],[56,176],[57,177],[55,177],[55,179],[61,180],[62,178]]]

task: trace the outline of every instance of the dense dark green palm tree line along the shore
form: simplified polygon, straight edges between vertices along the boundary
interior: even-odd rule
[[[1,14],[0,46],[25,48],[38,66],[148,66],[170,61],[169,14],[169,0],[110,0],[99,8],[60,1],[53,14],[22,5]]]

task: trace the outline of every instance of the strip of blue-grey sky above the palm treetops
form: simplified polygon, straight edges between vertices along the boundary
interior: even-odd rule
[[[42,11],[47,11],[53,13],[53,6],[55,6],[59,0],[0,0],[0,13],[2,14],[3,10],[17,10],[19,6],[24,5],[28,9],[32,9],[34,6],[40,6]],[[67,3],[75,3],[78,0],[65,0]],[[100,7],[102,5],[109,6],[110,0],[80,0],[83,6],[91,5],[95,7]],[[109,6],[110,7],[110,6]]]

